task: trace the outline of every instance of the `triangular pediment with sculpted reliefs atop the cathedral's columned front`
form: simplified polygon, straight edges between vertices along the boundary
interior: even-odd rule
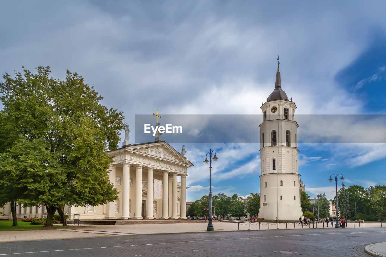
[[[193,164],[190,161],[188,161],[188,159],[183,157],[176,149],[174,149],[164,141],[126,145],[121,149],[111,151],[110,154],[114,154],[114,152],[116,151],[122,152],[122,150],[124,151],[126,150],[129,152],[134,151],[134,152],[141,153],[143,155],[147,155],[149,157],[153,156],[159,159],[166,159],[168,161],[185,164],[190,167],[193,166]]]

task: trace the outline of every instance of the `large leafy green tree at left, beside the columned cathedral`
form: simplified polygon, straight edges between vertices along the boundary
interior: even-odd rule
[[[23,67],[24,68],[24,67]],[[0,100],[0,194],[25,206],[44,204],[46,227],[64,205],[100,205],[117,199],[108,179],[107,150],[117,148],[122,112],[107,109],[102,96],[67,71],[63,81],[49,67],[3,75]],[[6,198],[6,197],[4,197]],[[12,203],[12,201],[11,201]]]

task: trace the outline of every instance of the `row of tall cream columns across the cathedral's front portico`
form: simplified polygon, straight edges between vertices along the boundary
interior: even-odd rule
[[[135,206],[134,206],[134,220],[142,220],[142,167],[137,165],[135,166]],[[172,177],[169,178],[169,173],[172,173]],[[163,172],[163,196],[162,196],[162,218],[161,219],[178,219],[178,186],[177,186],[177,173],[174,172]],[[181,174],[181,198],[180,198],[180,217],[181,219],[186,219],[186,175]],[[154,169],[147,168],[147,198],[146,198],[146,218],[153,218],[153,178],[154,178]],[[110,170],[110,180],[115,183],[115,169]],[[122,203],[121,210],[122,216],[119,219],[127,220],[130,218],[129,212],[129,202],[130,202],[130,164],[123,164],[123,178],[122,181]],[[169,181],[171,182],[171,187],[169,188]],[[170,189],[170,190],[169,190]],[[171,195],[169,195],[169,192]],[[169,202],[171,203],[171,212],[169,211]],[[112,213],[113,206],[110,203],[110,215],[107,218],[114,218]],[[171,213],[171,217],[169,217]]]

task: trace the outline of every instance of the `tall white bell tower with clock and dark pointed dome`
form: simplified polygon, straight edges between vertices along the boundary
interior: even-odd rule
[[[303,217],[300,206],[298,172],[298,123],[295,102],[288,100],[281,89],[279,71],[275,90],[260,107],[260,211],[266,220],[298,220]]]

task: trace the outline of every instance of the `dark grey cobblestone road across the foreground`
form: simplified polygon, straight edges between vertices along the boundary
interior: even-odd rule
[[[370,256],[384,228],[251,230],[0,243],[2,256]]]

